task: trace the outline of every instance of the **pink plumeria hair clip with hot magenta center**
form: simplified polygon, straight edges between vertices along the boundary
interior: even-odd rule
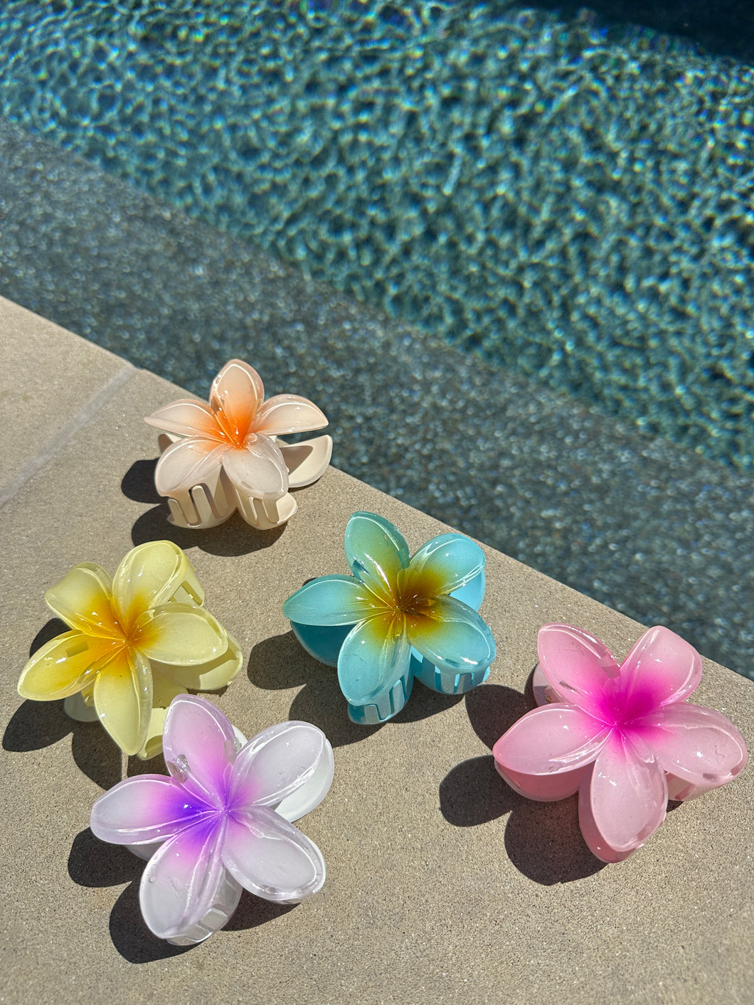
[[[675,632],[650,628],[620,665],[571,625],[545,625],[537,647],[540,708],[495,745],[496,767],[529,799],[578,792],[581,833],[603,862],[640,848],[669,799],[694,799],[743,771],[748,755],[736,727],[686,700],[702,658]]]

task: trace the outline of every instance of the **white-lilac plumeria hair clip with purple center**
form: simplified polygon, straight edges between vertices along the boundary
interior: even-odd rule
[[[95,803],[91,830],[149,859],[139,900],[160,939],[202,942],[230,920],[241,890],[277,903],[322,888],[322,852],[295,827],[333,781],[333,750],[309,723],[246,742],[203,697],[176,697],[165,721],[170,776],[137,775]]]

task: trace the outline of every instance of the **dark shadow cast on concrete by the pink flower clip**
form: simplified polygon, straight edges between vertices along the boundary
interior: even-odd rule
[[[524,694],[500,684],[483,684],[466,694],[466,714],[489,748],[535,707],[531,675]],[[442,815],[456,827],[475,827],[509,814],[505,844],[513,864],[535,882],[552,885],[593,875],[604,862],[581,836],[576,796],[540,803],[518,795],[501,778],[492,755],[456,765],[439,787]]]

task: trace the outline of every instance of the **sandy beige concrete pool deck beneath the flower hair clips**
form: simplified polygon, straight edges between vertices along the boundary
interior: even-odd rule
[[[487,684],[448,699],[420,684],[378,730],[349,724],[335,672],[298,645],[281,602],[345,571],[354,510],[393,521],[410,547],[442,525],[330,469],[298,493],[282,531],[235,519],[192,534],[166,523],[142,421],[176,388],[0,299],[4,585],[4,827],[0,999],[39,1003],[718,1002],[751,1000],[754,772],[669,814],[626,862],[584,845],[575,799],[538,804],[497,776],[490,749],[532,706],[539,626],[578,624],[623,655],[639,626],[487,548],[483,613],[499,655]],[[298,907],[244,894],[227,929],[189,951],[151,937],[142,863],[88,830],[122,777],[99,725],[16,682],[50,612],[44,591],[75,563],[115,570],[143,541],[185,548],[207,604],[245,662],[222,710],[246,735],[287,719],[320,726],[336,776],[301,827],[328,880]],[[706,661],[695,700],[754,744],[754,684]],[[131,771],[141,764],[132,762]],[[161,771],[158,762],[148,770]]]

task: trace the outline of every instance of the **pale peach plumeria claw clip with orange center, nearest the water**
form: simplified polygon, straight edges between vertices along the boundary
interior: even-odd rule
[[[298,510],[289,489],[320,478],[333,452],[327,434],[300,443],[278,439],[328,420],[298,394],[264,401],[261,378],[241,360],[230,360],[212,381],[208,405],[181,398],[145,421],[166,430],[155,484],[168,498],[171,521],[185,528],[215,527],[235,510],[257,530],[279,527]]]

